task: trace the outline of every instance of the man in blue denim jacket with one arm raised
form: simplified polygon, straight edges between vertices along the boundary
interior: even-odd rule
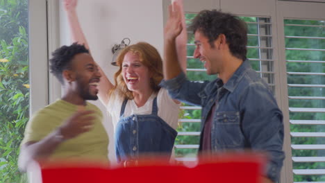
[[[164,79],[161,85],[179,101],[202,107],[199,150],[251,149],[266,152],[264,182],[277,182],[283,166],[283,115],[267,83],[251,69],[247,27],[233,15],[203,10],[194,18],[194,58],[199,58],[212,82],[191,82],[181,71],[175,39],[182,30],[181,12],[169,7],[165,26]]]

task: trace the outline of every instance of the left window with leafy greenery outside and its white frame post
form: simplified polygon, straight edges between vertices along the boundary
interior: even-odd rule
[[[24,127],[31,110],[47,103],[42,89],[47,88],[47,24],[46,18],[37,19],[46,17],[42,10],[46,12],[45,1],[0,0],[1,182],[25,180],[17,169]],[[34,81],[42,87],[34,87]]]

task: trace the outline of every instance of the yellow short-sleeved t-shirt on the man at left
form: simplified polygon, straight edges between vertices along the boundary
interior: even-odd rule
[[[22,144],[28,141],[40,141],[56,130],[63,122],[77,111],[77,105],[57,100],[36,112],[28,121]],[[108,163],[108,135],[103,124],[103,114],[98,107],[87,103],[85,110],[94,110],[94,126],[89,132],[68,139],[58,145],[49,160],[73,160]]]

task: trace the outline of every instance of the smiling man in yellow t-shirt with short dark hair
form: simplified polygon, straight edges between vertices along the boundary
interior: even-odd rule
[[[72,44],[53,52],[51,73],[63,85],[63,97],[36,112],[28,121],[19,155],[19,168],[33,160],[73,161],[108,165],[108,135],[97,100],[101,78],[85,46]]]

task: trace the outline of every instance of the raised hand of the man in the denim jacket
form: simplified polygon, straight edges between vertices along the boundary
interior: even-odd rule
[[[174,40],[183,30],[182,26],[182,11],[177,2],[172,3],[168,7],[169,18],[167,20],[164,35],[165,40]]]

